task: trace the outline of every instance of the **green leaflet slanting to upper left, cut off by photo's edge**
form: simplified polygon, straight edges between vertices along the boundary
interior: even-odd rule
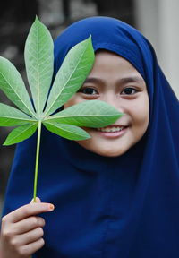
[[[21,74],[15,66],[0,56],[0,90],[3,90],[8,99],[19,107],[22,111],[35,116],[30,96],[21,79]]]

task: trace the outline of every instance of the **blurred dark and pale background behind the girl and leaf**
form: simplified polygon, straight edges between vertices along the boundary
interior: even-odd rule
[[[178,0],[18,0],[2,1],[0,8],[0,56],[8,58],[27,82],[23,50],[30,25],[37,14],[53,39],[72,22],[102,15],[128,22],[150,40],[158,62],[179,97],[179,1]],[[27,84],[26,84],[27,85]],[[12,105],[0,92],[0,102]],[[0,214],[15,146],[2,146],[11,128],[0,127]],[[25,173],[25,171],[24,171]]]

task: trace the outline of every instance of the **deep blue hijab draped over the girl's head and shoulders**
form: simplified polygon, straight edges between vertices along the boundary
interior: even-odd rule
[[[38,196],[55,204],[40,258],[179,257],[179,106],[149,41],[124,22],[91,17],[55,40],[55,73],[69,49],[92,35],[95,51],[123,56],[149,92],[149,127],[122,156],[107,158],[43,130]],[[18,144],[4,214],[30,202],[36,137]]]

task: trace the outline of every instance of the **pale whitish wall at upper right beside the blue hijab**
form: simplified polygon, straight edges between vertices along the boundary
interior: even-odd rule
[[[179,0],[134,0],[137,28],[149,39],[179,99]]]

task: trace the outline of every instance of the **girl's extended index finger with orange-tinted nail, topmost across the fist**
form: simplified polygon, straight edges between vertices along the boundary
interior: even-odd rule
[[[30,216],[38,215],[39,213],[42,213],[42,212],[53,211],[54,209],[55,207],[51,203],[34,202],[34,203],[26,204],[20,207],[19,209],[10,212],[6,216],[4,216],[2,220],[3,222],[9,221],[9,222],[15,223],[22,219],[26,219]]]

